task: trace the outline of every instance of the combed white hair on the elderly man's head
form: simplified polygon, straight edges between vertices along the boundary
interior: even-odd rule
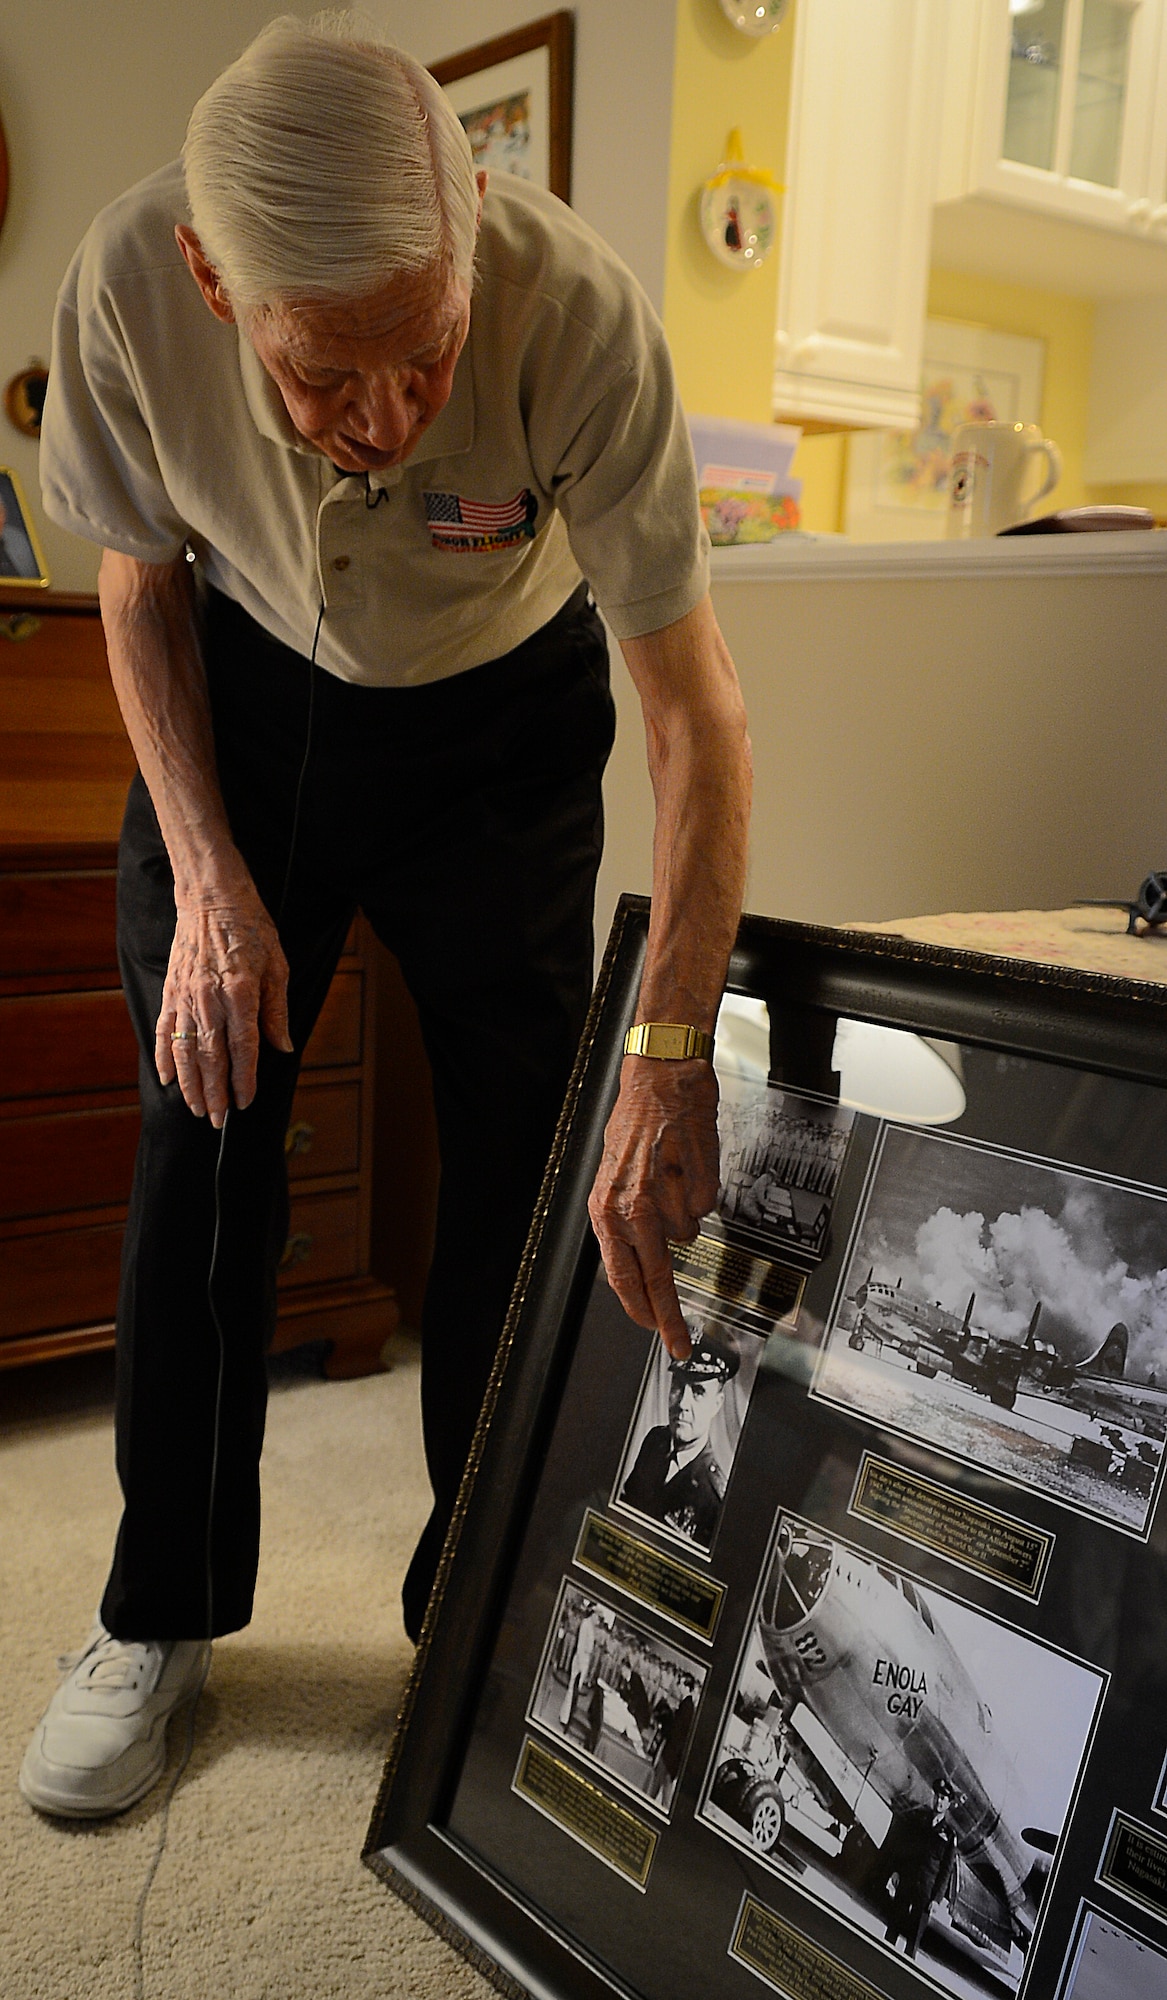
[[[186,198],[232,306],[474,278],[470,140],[428,70],[354,14],[286,14],[190,116]]]

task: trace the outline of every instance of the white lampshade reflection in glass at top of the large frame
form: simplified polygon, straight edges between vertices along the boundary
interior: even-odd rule
[[[839,1102],[901,1124],[951,1124],[965,1110],[961,1052],[955,1042],[839,1018],[831,1068]],[[769,1008],[747,994],[725,994],[717,1014],[717,1070],[763,1084],[769,1076]]]

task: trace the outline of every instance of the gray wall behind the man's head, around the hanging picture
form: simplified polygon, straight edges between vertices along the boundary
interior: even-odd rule
[[[174,158],[194,100],[274,14],[312,0],[36,0],[4,8],[0,116],[12,192],[0,232],[0,384],[48,360],[52,302],[92,216]],[[540,16],[534,0],[368,0],[424,62]],[[550,12],[550,8],[548,8]],[[659,306],[673,0],[576,0],[576,206]],[[52,582],[92,590],[98,556],[50,526],[36,444],[0,416],[0,464],[32,502]]]

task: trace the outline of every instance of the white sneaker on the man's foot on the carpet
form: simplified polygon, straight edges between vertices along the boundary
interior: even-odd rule
[[[94,1626],[20,1766],[20,1790],[38,1812],[100,1820],[124,1812],[166,1768],[166,1724],[210,1666],[204,1640],[120,1640]]]

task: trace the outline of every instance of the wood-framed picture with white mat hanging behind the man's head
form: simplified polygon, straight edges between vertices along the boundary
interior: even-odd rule
[[[432,62],[476,166],[504,168],[572,200],[574,18],[564,8]]]

